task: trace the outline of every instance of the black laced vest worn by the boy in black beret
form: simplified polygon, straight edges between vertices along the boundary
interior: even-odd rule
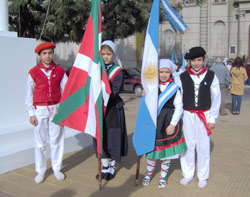
[[[195,106],[194,82],[187,72],[180,75],[183,88],[183,108],[185,110],[208,110],[211,108],[210,87],[214,79],[214,72],[208,70],[201,81],[198,93],[198,105]]]

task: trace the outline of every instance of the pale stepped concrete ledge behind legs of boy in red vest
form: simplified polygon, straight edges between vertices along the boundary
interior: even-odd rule
[[[88,134],[66,128],[64,153],[81,150],[92,144]],[[50,158],[49,146],[47,157]],[[0,174],[34,164],[33,128],[5,133],[0,137]]]

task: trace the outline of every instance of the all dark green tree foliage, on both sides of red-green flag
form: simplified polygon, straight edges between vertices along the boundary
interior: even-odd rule
[[[10,30],[17,31],[20,37],[39,39],[42,32],[42,40],[80,42],[90,12],[90,1],[49,2],[50,0],[11,0]],[[152,0],[103,1],[103,39],[126,38],[144,30],[147,27],[151,5]]]

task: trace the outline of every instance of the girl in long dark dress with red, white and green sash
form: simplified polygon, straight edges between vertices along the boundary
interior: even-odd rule
[[[111,180],[115,177],[115,164],[127,155],[128,140],[124,113],[124,101],[119,96],[123,85],[123,69],[116,46],[111,40],[101,44],[101,54],[107,70],[111,94],[103,120],[103,154],[102,179]],[[96,141],[95,141],[96,142]],[[96,143],[95,143],[96,147]],[[98,179],[98,174],[96,175]]]

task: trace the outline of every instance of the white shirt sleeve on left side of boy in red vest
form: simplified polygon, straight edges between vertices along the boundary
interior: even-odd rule
[[[33,105],[34,88],[35,88],[35,82],[33,81],[32,77],[29,74],[27,77],[26,96],[25,96],[26,111],[28,112],[29,116],[35,115],[35,107]]]

